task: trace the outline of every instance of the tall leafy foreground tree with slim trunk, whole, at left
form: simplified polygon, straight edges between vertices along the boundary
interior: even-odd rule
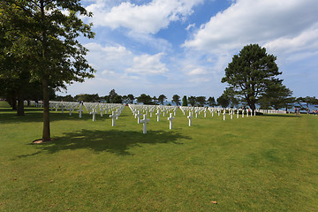
[[[91,25],[80,16],[92,16],[79,0],[4,0],[13,7],[6,21],[29,38],[32,77],[42,81],[43,133],[42,140],[50,140],[49,85],[84,81],[94,77],[95,70],[87,63],[87,49],[77,40],[80,35],[93,38]],[[18,12],[19,11],[19,12]],[[32,42],[31,42],[32,41]]]

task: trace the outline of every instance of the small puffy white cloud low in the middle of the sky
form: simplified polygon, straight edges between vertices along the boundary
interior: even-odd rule
[[[133,67],[127,68],[127,73],[137,74],[163,74],[168,72],[168,68],[160,59],[163,53],[158,53],[153,56],[145,54],[133,58]]]

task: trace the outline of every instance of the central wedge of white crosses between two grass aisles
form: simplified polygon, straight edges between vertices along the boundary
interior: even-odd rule
[[[129,104],[128,105],[130,110],[132,110],[133,116],[137,118],[137,124],[143,124],[143,133],[147,133],[147,124],[149,123],[150,119],[147,118],[148,112],[150,113],[150,117],[152,117],[153,113],[155,112],[157,122],[160,121],[160,115],[163,114],[163,117],[165,117],[165,114],[170,114],[170,117],[168,117],[169,121],[169,129],[172,129],[172,122],[175,117],[173,117],[172,112],[174,116],[176,116],[176,112],[178,110],[178,106],[166,106],[166,105],[139,105],[139,104]],[[141,113],[141,112],[142,113]],[[143,114],[145,113],[145,114]],[[143,116],[143,119],[141,119],[141,116]]]

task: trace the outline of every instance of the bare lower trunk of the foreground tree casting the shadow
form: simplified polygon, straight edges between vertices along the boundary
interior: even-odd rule
[[[49,133],[49,82],[48,77],[42,77],[42,87],[43,87],[43,133],[42,141],[50,140]]]

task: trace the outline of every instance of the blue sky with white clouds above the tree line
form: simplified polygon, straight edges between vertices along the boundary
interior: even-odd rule
[[[277,57],[294,96],[318,96],[317,0],[82,0],[94,17],[95,79],[67,95],[205,95],[216,98],[224,69],[250,43]],[[65,93],[59,95],[66,95]]]

